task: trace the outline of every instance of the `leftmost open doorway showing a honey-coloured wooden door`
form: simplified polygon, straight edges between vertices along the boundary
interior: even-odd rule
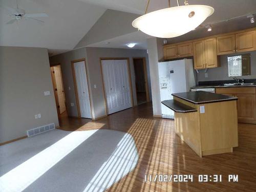
[[[51,67],[51,75],[58,117],[66,111],[66,99],[60,65]]]

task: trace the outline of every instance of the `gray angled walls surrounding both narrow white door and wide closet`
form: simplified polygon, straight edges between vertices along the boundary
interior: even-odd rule
[[[134,104],[137,105],[136,88],[135,88],[135,73],[133,66],[133,57],[146,57],[147,63],[147,75],[148,75],[148,89],[150,91],[151,99],[151,82],[150,82],[150,69],[148,66],[148,57],[146,50],[135,49],[112,49],[112,48],[81,48],[73,50],[67,53],[50,57],[51,66],[58,63],[61,64],[63,83],[65,89],[66,102],[68,105],[69,116],[77,115],[77,105],[71,107],[70,103],[75,101],[74,82],[71,69],[71,60],[80,58],[86,58],[87,69],[89,74],[89,89],[92,99],[92,114],[93,118],[98,118],[105,115],[105,103],[103,95],[102,76],[100,71],[100,58],[117,58],[117,57],[129,57],[131,79],[133,87]],[[97,88],[94,88],[96,84]],[[69,90],[69,87],[71,90]]]

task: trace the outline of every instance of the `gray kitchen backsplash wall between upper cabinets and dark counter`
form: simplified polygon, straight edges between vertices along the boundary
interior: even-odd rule
[[[251,54],[251,75],[240,76],[239,78],[253,79],[256,78],[256,51],[246,52]],[[245,53],[242,53],[245,54]],[[212,80],[228,80],[232,77],[228,77],[228,65],[227,65],[227,55],[220,56],[221,67],[208,69],[208,78],[205,77],[205,71],[199,70],[197,74],[198,81],[212,81]]]

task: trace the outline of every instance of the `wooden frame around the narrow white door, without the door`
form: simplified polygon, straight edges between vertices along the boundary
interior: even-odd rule
[[[73,75],[73,81],[74,81],[74,88],[75,88],[75,97],[76,97],[76,105],[77,105],[77,112],[78,112],[78,118],[81,118],[81,111],[80,111],[80,102],[78,98],[78,91],[77,91],[77,83],[76,83],[76,73],[74,69],[74,63],[84,61],[84,67],[86,69],[86,78],[87,78],[87,87],[88,87],[88,94],[89,94],[89,102],[90,102],[90,108],[91,108],[91,116],[93,119],[92,114],[92,102],[91,102],[91,91],[89,86],[89,79],[88,79],[88,72],[86,67],[86,58],[76,59],[71,61],[71,68],[72,68],[72,75]]]

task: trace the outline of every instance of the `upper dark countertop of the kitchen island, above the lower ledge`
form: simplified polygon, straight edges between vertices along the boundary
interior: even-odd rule
[[[205,92],[205,91],[173,93],[172,95],[175,97],[184,99],[188,102],[194,103],[194,104],[223,102],[223,101],[238,99],[237,97],[216,94],[216,93],[210,93],[210,92]]]

